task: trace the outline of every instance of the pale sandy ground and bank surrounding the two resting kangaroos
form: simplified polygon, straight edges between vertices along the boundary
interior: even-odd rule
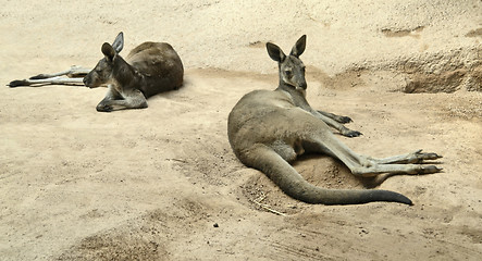
[[[2,85],[94,66],[121,30],[124,54],[168,41],[186,67],[145,110],[98,113],[103,88],[0,88],[0,259],[480,260],[482,2],[258,2],[0,0]],[[298,202],[231,151],[231,109],[277,84],[264,42],[288,51],[302,34],[309,102],[364,134],[339,139],[437,152],[444,172],[357,179],[325,156],[295,167],[415,206]]]

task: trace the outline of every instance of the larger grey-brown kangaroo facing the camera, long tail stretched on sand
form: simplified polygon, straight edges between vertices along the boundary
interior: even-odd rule
[[[347,137],[359,136],[342,123],[349,117],[313,110],[306,100],[305,65],[299,59],[306,47],[301,36],[286,55],[268,42],[270,58],[279,63],[280,85],[275,90],[254,90],[233,108],[227,120],[231,147],[246,166],[263,172],[286,195],[308,203],[358,204],[390,201],[412,204],[406,196],[380,189],[325,189],[313,186],[289,164],[305,152],[324,153],[341,160],[356,176],[382,173],[429,174],[441,172],[425,160],[436,153],[412,153],[374,159],[354,152],[339,141],[329,126]]]

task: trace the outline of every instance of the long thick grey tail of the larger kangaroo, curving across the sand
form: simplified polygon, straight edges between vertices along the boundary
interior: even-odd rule
[[[360,204],[373,201],[412,204],[401,194],[380,189],[325,189],[309,184],[281,156],[268,147],[259,147],[244,158],[244,163],[263,172],[286,195],[307,203]]]

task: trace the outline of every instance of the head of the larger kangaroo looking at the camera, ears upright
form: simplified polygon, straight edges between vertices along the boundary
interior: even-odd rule
[[[295,44],[289,55],[274,44],[268,42],[267,49],[270,58],[277,62],[280,69],[280,84],[291,86],[295,89],[307,88],[305,79],[305,64],[299,55],[305,51],[306,35],[301,36]]]

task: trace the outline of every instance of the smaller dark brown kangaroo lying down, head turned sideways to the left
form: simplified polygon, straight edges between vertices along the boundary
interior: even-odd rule
[[[102,45],[104,58],[90,72],[73,66],[58,74],[39,74],[30,79],[13,80],[10,86],[84,83],[95,88],[108,85],[108,92],[96,109],[110,112],[147,108],[147,98],[183,85],[183,63],[171,45],[147,41],[132,50],[125,60],[119,55],[123,47],[124,36],[121,32],[112,45]],[[76,78],[84,75],[84,79]]]

